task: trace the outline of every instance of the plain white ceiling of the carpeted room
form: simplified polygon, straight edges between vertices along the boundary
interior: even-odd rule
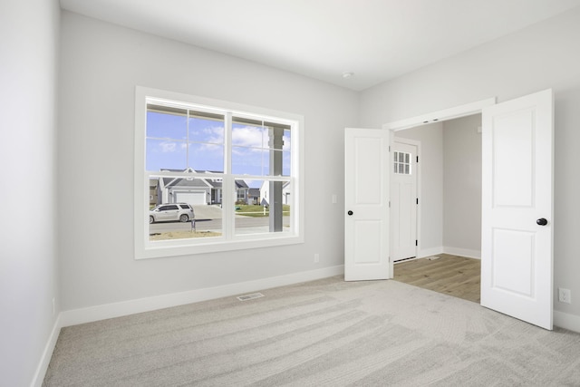
[[[580,6],[580,0],[60,2],[78,14],[354,91]]]

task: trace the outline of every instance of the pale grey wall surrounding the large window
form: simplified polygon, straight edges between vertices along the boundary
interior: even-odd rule
[[[62,25],[63,310],[343,265],[343,128],[357,123],[356,92],[68,12]],[[135,85],[303,114],[305,243],[136,261]]]

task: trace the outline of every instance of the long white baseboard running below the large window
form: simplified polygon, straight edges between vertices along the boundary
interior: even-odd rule
[[[90,306],[82,309],[63,311],[61,313],[60,322],[61,326],[92,323],[94,321],[120,317],[122,315],[150,312],[171,306],[208,301],[219,297],[240,295],[247,292],[255,292],[256,290],[298,284],[300,282],[313,281],[315,279],[343,274],[344,266],[332,266],[286,276],[274,276],[257,279],[255,281],[196,289],[170,295],[156,295],[153,297],[123,301],[120,303]]]

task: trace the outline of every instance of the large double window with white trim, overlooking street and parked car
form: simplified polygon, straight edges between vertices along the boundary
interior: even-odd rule
[[[136,257],[304,240],[301,116],[141,87],[135,111]]]

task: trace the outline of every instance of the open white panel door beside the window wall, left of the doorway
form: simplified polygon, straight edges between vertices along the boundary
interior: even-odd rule
[[[344,279],[391,278],[390,131],[344,131]]]

